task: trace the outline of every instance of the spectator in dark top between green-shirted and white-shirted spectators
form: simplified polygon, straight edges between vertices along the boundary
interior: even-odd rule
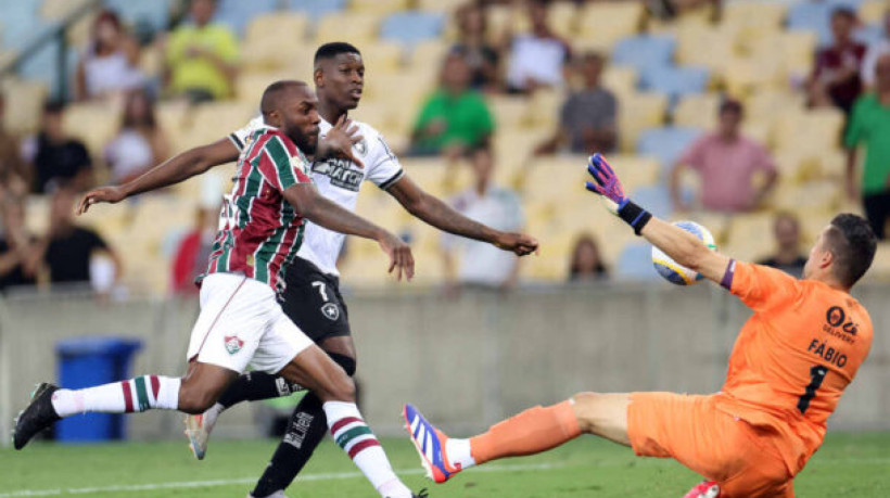
[[[470,66],[470,87],[480,91],[493,91],[499,84],[497,71],[500,55],[488,43],[485,10],[468,3],[455,13],[459,29],[457,43],[452,51],[459,53]]]

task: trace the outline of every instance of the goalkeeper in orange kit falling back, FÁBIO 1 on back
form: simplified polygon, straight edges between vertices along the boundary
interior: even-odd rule
[[[595,434],[639,456],[674,458],[708,482],[687,496],[791,497],[792,480],[818,449],[826,421],[868,355],[872,321],[850,289],[872,264],[868,222],[838,215],[823,229],[797,280],[737,261],[664,222],[624,194],[606,159],[590,157],[587,189],[679,265],[720,283],[753,316],[739,332],[717,394],[580,393],[534,407],[468,439],[436,430],[411,405],[407,429],[430,476],[532,455]]]

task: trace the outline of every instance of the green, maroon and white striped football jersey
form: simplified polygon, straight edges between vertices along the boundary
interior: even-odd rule
[[[277,128],[256,129],[238,159],[234,186],[223,206],[207,273],[240,272],[283,290],[279,274],[303,243],[305,224],[283,192],[310,183],[308,162]]]

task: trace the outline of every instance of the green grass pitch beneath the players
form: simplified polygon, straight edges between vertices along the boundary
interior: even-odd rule
[[[454,481],[427,481],[407,438],[383,439],[393,465],[415,489],[437,497],[681,497],[698,477],[676,462],[643,459],[585,436],[554,451],[472,469]],[[719,444],[719,443],[717,443]],[[276,442],[215,440],[195,461],[181,442],[96,446],[34,444],[0,449],[0,498],[35,496],[243,497]],[[796,481],[809,497],[890,496],[890,433],[829,434]],[[373,497],[370,485],[330,440],[289,490],[291,497]]]

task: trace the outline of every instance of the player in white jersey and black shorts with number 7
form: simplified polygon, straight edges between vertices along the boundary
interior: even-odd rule
[[[372,181],[395,197],[411,215],[443,231],[488,242],[519,256],[537,250],[535,239],[478,224],[424,192],[402,169],[383,137],[371,126],[357,122],[342,126],[348,111],[358,106],[364,88],[365,64],[358,49],[344,42],[319,47],[313,76],[321,116],[320,137],[326,137],[332,124],[339,124],[339,128],[348,129],[355,143],[352,157],[313,163],[310,177],[322,195],[347,209],[355,209],[361,183]],[[216,165],[236,161],[255,123],[249,124],[226,139],[186,151],[169,162],[188,164],[189,173],[198,175]],[[323,145],[325,141],[320,140],[317,156],[328,155]],[[140,192],[144,190],[150,189],[142,188]],[[117,202],[130,193],[104,188],[93,195],[101,195],[102,201]],[[287,286],[281,297],[285,315],[352,375],[356,368],[356,352],[351,337],[348,311],[339,290],[336,270],[336,258],[344,240],[338,233],[309,224],[305,242],[285,273]],[[217,405],[203,416],[187,420],[186,432],[195,457],[204,457],[207,437],[226,408],[244,400],[289,395],[298,388],[283,379],[262,372],[242,375],[220,397]],[[284,496],[283,489],[308,461],[323,438],[326,429],[321,405],[309,393],[295,408],[282,443],[251,496]]]

